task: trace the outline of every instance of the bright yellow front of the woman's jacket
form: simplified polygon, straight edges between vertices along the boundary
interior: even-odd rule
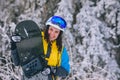
[[[43,48],[44,48],[44,54],[47,54],[47,47],[48,47],[48,43],[47,41],[44,39],[44,33],[42,32],[42,41],[43,41]],[[51,53],[50,53],[50,57],[46,58],[46,60],[48,61],[47,65],[49,66],[60,66],[60,57],[61,57],[61,52],[58,52],[58,48],[56,45],[56,41],[52,42],[51,45]]]

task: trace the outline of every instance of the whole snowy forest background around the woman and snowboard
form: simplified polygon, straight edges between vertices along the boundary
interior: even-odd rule
[[[32,19],[43,28],[52,15],[67,21],[71,72],[64,80],[120,80],[120,0],[0,0],[0,80],[22,79],[11,61],[16,24]]]

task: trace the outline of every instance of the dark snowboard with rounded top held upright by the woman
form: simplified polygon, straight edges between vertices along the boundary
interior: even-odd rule
[[[16,43],[20,66],[25,76],[30,78],[45,64],[41,30],[34,21],[24,20],[16,26],[15,34],[21,37],[21,41]]]

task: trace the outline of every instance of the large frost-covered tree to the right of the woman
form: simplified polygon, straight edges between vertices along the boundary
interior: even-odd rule
[[[77,79],[119,79],[120,70],[115,60],[116,53],[113,50],[115,45],[111,42],[111,39],[116,39],[115,28],[110,26],[116,25],[115,16],[112,14],[115,9],[108,14],[109,7],[105,7],[113,3],[117,5],[117,1],[110,0],[101,0],[96,5],[89,0],[82,2],[83,6],[76,16],[77,23],[74,25],[75,32],[77,32],[75,36],[79,41],[75,46],[79,53],[75,58],[77,59],[75,64],[79,62],[79,66],[75,65],[78,67],[75,69]],[[105,19],[101,20],[99,18],[103,13],[107,15],[104,15]]]

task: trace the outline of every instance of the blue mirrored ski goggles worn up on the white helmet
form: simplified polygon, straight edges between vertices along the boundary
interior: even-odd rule
[[[66,21],[64,19],[62,19],[61,17],[53,16],[51,19],[51,22],[53,24],[58,25],[62,29],[66,28]]]

